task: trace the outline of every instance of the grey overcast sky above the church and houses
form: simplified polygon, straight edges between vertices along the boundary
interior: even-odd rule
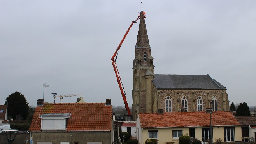
[[[1,0],[0,104],[19,91],[36,106],[46,83],[46,102],[53,92],[82,93],[86,102],[124,105],[111,57],[142,9],[155,73],[209,74],[230,104],[256,106],[255,0]],[[117,58],[129,106],[138,28]]]

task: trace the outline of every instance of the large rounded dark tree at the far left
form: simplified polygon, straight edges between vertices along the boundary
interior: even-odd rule
[[[20,92],[9,95],[5,99],[5,105],[7,105],[8,116],[11,116],[13,120],[16,119],[16,115],[21,115],[23,120],[28,117],[28,102]]]

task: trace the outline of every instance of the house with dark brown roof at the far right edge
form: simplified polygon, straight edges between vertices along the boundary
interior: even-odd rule
[[[241,125],[242,137],[254,137],[255,139],[255,135],[252,136],[249,134],[249,128],[256,126],[256,116],[235,116],[235,119]]]

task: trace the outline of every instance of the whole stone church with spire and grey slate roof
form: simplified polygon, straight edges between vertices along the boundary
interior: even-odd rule
[[[133,60],[132,118],[138,113],[229,111],[226,87],[210,75],[155,74],[143,12]]]

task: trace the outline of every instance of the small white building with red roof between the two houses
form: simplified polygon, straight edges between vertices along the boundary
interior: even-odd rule
[[[132,138],[136,138],[136,121],[124,121],[121,130],[128,132]]]

